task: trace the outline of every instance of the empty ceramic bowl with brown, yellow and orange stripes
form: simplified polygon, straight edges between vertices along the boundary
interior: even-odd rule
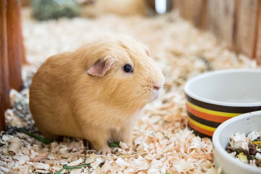
[[[211,138],[229,118],[261,110],[261,70],[230,69],[201,74],[185,85],[188,126]]]

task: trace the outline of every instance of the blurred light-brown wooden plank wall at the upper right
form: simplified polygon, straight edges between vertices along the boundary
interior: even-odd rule
[[[261,0],[173,0],[173,8],[261,64]]]

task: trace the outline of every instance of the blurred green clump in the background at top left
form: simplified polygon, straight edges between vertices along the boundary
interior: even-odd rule
[[[72,18],[80,13],[75,0],[32,0],[31,7],[33,17],[37,20]]]

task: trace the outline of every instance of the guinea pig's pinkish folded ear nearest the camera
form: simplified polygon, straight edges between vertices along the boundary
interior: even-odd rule
[[[113,64],[113,59],[108,58],[106,60],[100,60],[97,63],[95,63],[88,71],[87,73],[93,76],[99,76],[102,77],[108,71]]]

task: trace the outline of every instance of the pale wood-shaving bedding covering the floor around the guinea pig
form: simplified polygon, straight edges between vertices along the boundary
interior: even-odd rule
[[[74,50],[100,34],[126,33],[150,47],[152,58],[167,76],[161,98],[145,107],[135,125],[137,152],[125,143],[115,154],[96,155],[85,140],[64,137],[43,144],[14,128],[37,134],[28,107],[28,87],[37,67],[61,51]],[[23,10],[23,35],[28,61],[23,67],[25,89],[11,91],[13,109],[5,112],[7,129],[1,133],[0,173],[56,173],[63,166],[90,163],[62,173],[218,173],[213,167],[210,139],[201,139],[187,129],[183,87],[191,77],[216,69],[258,68],[255,61],[236,55],[225,44],[200,32],[172,12],[158,17],[60,19],[38,22]],[[59,123],[57,123],[59,127]]]

